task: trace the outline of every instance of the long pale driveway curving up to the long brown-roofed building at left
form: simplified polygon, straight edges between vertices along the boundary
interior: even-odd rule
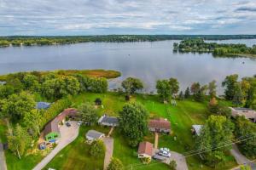
[[[59,151],[61,151],[65,146],[67,146],[67,144],[70,144],[74,139],[78,137],[78,122],[72,121],[70,124],[71,127],[67,127],[66,125],[61,126],[61,139],[59,139],[59,143],[54,150],[51,150],[48,156],[44,157],[44,159],[40,161],[36,167],[33,168],[33,170],[43,169],[49,163],[49,161],[51,161],[58,154]]]

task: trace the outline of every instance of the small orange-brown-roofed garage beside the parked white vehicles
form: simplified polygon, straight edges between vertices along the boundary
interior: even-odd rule
[[[137,157],[138,158],[149,157],[151,159],[152,156],[153,156],[153,144],[151,144],[150,142],[141,142],[137,150]]]

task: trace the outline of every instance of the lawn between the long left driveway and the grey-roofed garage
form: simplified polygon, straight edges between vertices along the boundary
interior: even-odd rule
[[[110,128],[104,127],[84,127],[81,126],[79,129],[79,137],[68,144],[61,152],[55,156],[55,158],[49,162],[44,168],[49,167],[54,169],[86,169],[86,170],[102,170],[104,157],[94,158],[90,156],[89,148],[90,145],[85,143],[85,133],[88,130],[95,129],[96,131],[108,134]]]

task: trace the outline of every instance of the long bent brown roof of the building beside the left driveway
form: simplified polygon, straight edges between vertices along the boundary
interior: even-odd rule
[[[75,116],[76,114],[77,110],[73,108],[65,109],[58,116],[55,116],[53,120],[46,124],[44,127],[44,135],[52,132],[60,133],[60,129],[58,127],[59,122],[61,122],[66,116]]]

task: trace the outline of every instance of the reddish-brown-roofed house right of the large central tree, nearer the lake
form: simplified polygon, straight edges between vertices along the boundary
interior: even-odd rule
[[[148,129],[154,133],[170,133],[171,132],[171,122],[167,119],[151,119],[148,122]]]

